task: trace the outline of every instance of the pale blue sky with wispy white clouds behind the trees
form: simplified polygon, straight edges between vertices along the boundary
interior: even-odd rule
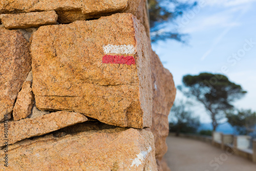
[[[188,34],[187,45],[175,40],[153,45],[164,67],[173,74],[176,86],[182,84],[186,74],[224,74],[248,92],[234,106],[256,111],[255,9],[256,0],[202,0],[178,18],[176,28]],[[182,98],[177,90],[176,99]],[[203,106],[196,106],[195,114],[200,115],[201,122],[210,122]]]

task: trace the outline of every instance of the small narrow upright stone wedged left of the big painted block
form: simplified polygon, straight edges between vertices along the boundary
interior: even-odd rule
[[[31,114],[31,109],[34,102],[34,94],[31,86],[31,81],[25,81],[23,83],[22,90],[18,93],[18,97],[12,112],[14,120],[27,118],[27,116]]]

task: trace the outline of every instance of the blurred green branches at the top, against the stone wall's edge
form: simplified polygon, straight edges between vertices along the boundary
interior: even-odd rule
[[[185,11],[195,7],[197,2],[188,3],[178,0],[148,0],[150,13],[151,40],[175,39],[185,42],[184,36],[179,31],[166,31],[166,24],[173,22],[177,17],[182,16]]]

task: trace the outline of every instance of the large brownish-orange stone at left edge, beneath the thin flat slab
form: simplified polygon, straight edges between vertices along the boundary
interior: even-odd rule
[[[0,121],[11,117],[14,101],[31,70],[29,42],[22,33],[0,28]]]

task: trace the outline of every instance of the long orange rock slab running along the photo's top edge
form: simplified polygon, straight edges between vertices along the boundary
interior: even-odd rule
[[[135,14],[139,2],[140,0],[0,0],[0,14],[54,10],[59,16],[59,23],[71,23],[76,20],[96,18],[118,12],[130,12]]]

